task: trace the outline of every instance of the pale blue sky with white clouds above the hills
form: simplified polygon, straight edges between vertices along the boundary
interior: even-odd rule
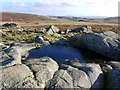
[[[2,3],[1,3],[2,2]],[[119,0],[1,0],[0,11],[54,16],[118,16]]]

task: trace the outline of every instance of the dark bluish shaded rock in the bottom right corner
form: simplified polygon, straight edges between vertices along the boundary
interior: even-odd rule
[[[108,73],[107,88],[120,88],[120,68],[115,68]]]

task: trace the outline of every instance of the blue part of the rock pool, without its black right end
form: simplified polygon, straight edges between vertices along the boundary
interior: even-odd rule
[[[40,58],[43,56],[51,57],[58,63],[69,62],[70,60],[79,60],[84,63],[83,56],[80,51],[70,46],[48,45],[29,52],[28,58]]]

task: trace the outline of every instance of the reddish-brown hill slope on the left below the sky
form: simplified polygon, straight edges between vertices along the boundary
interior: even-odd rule
[[[38,21],[62,21],[62,19],[35,15],[25,13],[11,13],[11,12],[0,12],[2,15],[2,21],[19,21],[19,22],[38,22]]]

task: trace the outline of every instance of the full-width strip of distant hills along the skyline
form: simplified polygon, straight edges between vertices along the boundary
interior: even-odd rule
[[[90,22],[90,23],[118,23],[120,17],[73,17],[73,16],[42,16],[35,14],[0,12],[2,22],[20,22],[20,23],[64,23],[64,22]],[[1,18],[0,18],[1,19]],[[26,25],[27,25],[26,24]]]

